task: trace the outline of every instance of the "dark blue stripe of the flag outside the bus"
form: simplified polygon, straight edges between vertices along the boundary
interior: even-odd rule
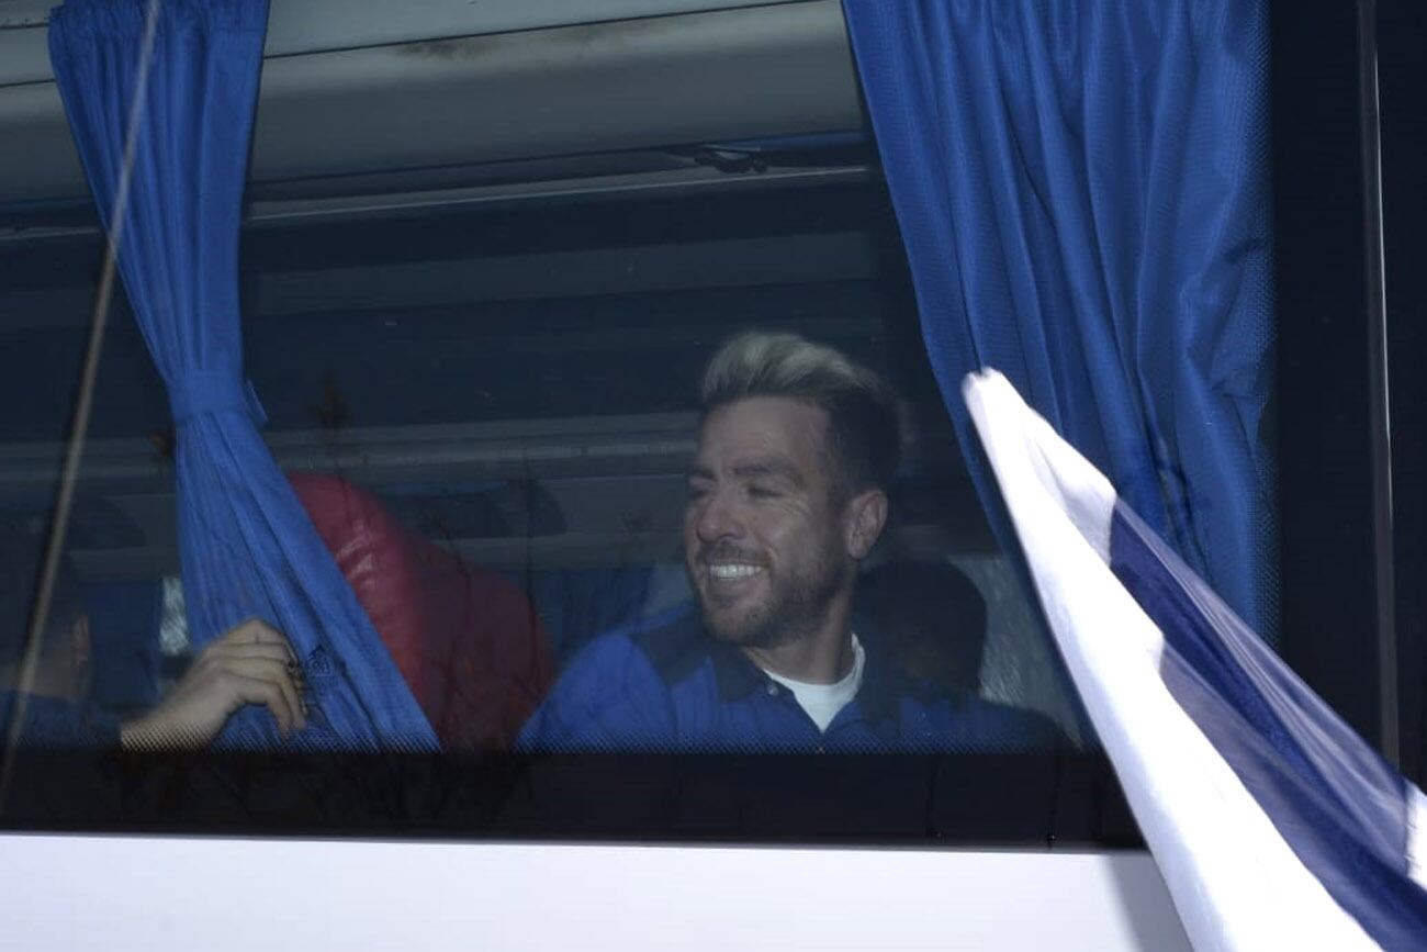
[[[1123,504],[1110,568],[1164,634],[1170,694],[1294,855],[1383,948],[1427,946],[1406,781]]]

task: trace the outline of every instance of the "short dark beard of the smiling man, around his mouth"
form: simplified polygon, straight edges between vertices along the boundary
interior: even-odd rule
[[[705,628],[719,641],[763,651],[791,645],[816,632],[828,621],[832,598],[846,584],[849,574],[848,565],[825,554],[826,548],[822,552],[802,571],[789,568],[778,574],[766,561],[756,559],[768,572],[768,595],[762,602],[731,615],[728,611],[721,612],[716,604],[709,604],[711,598],[705,595],[696,575],[705,572],[711,559],[745,554],[729,547],[701,551],[698,562],[686,562],[685,569],[689,572],[689,587],[699,599]],[[716,597],[712,601],[716,602]]]

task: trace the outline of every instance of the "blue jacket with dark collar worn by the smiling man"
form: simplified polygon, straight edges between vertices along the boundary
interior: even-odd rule
[[[862,688],[826,732],[785,687],[696,612],[589,644],[525,725],[521,752],[955,754],[1045,751],[1059,732],[1037,714],[913,681],[869,629]]]

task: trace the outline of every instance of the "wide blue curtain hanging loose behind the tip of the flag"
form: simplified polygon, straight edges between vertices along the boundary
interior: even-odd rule
[[[1260,632],[1277,614],[1264,0],[845,0],[928,353],[1000,370]]]

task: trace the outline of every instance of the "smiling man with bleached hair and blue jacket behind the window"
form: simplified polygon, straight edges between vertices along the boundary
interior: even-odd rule
[[[900,448],[896,401],[876,374],[799,337],[746,334],[709,363],[701,401],[684,515],[699,611],[592,642],[518,749],[1053,744],[1043,718],[919,684],[855,621],[858,565],[886,524]]]

